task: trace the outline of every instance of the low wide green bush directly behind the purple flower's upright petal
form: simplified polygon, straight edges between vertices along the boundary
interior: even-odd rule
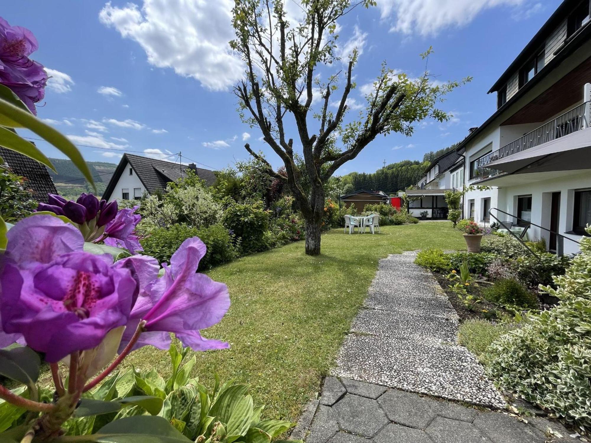
[[[140,243],[144,247],[144,254],[154,257],[160,263],[170,263],[173,253],[190,237],[199,237],[207,246],[207,253],[199,262],[200,271],[230,262],[238,256],[233,237],[220,224],[202,229],[186,224],[173,224],[151,230]]]

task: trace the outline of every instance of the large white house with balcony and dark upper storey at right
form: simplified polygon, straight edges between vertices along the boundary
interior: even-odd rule
[[[466,193],[465,217],[579,250],[591,223],[589,82],[591,1],[564,0],[489,90],[495,112],[457,146],[466,184],[491,187]]]

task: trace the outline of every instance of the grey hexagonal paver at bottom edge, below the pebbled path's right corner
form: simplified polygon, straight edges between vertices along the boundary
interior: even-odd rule
[[[473,424],[495,443],[544,443],[544,433],[504,413],[479,413]]]

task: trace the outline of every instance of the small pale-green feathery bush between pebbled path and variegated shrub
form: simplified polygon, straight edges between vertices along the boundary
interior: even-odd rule
[[[457,341],[475,354],[480,363],[487,364],[492,357],[488,349],[491,343],[514,328],[515,325],[508,323],[492,323],[478,318],[470,319],[460,325]]]

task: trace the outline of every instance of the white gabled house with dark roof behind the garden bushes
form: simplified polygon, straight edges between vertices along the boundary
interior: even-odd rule
[[[107,201],[138,199],[144,193],[153,194],[157,190],[165,190],[168,183],[184,177],[187,170],[195,172],[207,186],[216,180],[213,171],[197,168],[194,163],[183,165],[141,155],[124,154],[102,198]]]

